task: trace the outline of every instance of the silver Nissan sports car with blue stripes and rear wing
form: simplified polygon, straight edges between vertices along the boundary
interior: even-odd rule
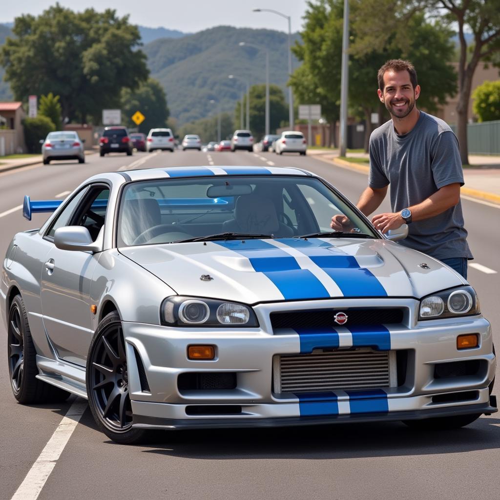
[[[94,175],[13,237],[0,309],[21,403],[88,398],[122,443],[148,429],[402,420],[496,409],[474,289],[297,168]],[[352,228],[331,232],[334,214]],[[392,239],[392,240],[391,240]]]

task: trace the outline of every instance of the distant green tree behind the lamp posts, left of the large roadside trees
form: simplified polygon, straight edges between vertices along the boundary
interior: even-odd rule
[[[236,102],[234,108],[234,128],[239,128],[241,101]],[[246,95],[243,97],[243,122],[246,123]],[[283,91],[278,85],[269,85],[269,133],[276,133],[284,120],[288,121],[288,104],[285,102]],[[250,87],[250,130],[259,140],[265,133],[265,84]]]

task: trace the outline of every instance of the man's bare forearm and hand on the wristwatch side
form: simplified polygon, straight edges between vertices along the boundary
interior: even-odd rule
[[[411,210],[411,220],[424,220],[426,218],[433,217],[434,215],[438,215],[439,213],[442,213],[448,208],[456,205],[459,200],[459,182],[442,186],[435,193],[431,194],[420,203],[408,207]],[[396,229],[403,224],[404,219],[401,217],[400,212],[379,213],[372,217],[371,222],[378,230],[387,232],[389,229]]]

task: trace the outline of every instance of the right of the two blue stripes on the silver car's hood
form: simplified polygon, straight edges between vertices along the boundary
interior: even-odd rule
[[[286,239],[283,243],[307,255],[335,281],[344,297],[386,297],[387,292],[373,273],[360,267],[355,257],[326,241]]]

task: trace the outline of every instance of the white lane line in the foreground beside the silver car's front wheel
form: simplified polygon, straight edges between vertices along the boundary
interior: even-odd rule
[[[36,500],[87,406],[80,398],[71,404],[11,500]]]

